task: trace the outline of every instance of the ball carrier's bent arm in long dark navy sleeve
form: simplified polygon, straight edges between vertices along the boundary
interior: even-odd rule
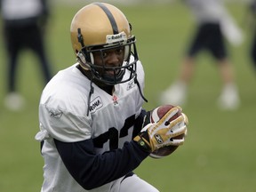
[[[132,172],[149,155],[134,141],[126,142],[124,148],[95,155],[88,148],[92,142],[63,143],[55,140],[61,159],[68,172],[85,189],[99,188]]]

